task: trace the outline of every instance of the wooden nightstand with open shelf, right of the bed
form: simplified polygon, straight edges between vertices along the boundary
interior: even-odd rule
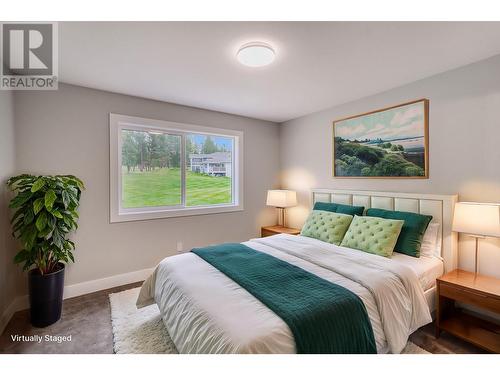
[[[462,312],[455,306],[462,302],[500,314],[500,280],[454,270],[437,279],[436,337],[441,330],[500,353],[500,326]]]

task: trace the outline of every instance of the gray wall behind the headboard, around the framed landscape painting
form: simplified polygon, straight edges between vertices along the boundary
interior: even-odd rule
[[[334,179],[332,122],[406,101],[430,99],[430,177],[423,180]],[[311,188],[453,194],[500,202],[500,56],[378,95],[291,120],[281,127],[282,186],[299,192],[291,225],[307,216]],[[461,237],[460,262],[472,266],[472,241]],[[500,277],[500,241],[482,241],[480,270]]]

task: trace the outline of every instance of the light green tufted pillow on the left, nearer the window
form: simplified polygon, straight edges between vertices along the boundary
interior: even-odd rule
[[[327,211],[312,211],[300,234],[339,245],[351,221],[351,215]]]

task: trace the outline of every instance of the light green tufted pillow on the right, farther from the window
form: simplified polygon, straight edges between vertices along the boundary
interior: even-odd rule
[[[403,224],[403,220],[354,216],[341,246],[390,257]]]

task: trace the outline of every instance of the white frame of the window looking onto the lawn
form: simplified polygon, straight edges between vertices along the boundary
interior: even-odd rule
[[[123,208],[122,199],[122,130],[161,131],[181,136],[181,204],[175,206]],[[206,206],[186,206],[186,135],[205,134],[211,136],[232,137],[233,162],[231,163],[231,203]],[[179,122],[153,120],[141,117],[109,114],[109,197],[110,222],[163,219],[169,217],[206,215],[243,210],[243,132],[231,129],[212,128]]]

